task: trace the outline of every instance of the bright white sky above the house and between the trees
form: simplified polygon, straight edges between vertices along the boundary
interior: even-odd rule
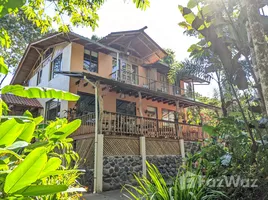
[[[91,28],[73,27],[73,31],[86,36],[96,34],[106,36],[110,32],[135,30],[147,26],[146,33],[162,48],[173,49],[177,60],[188,57],[187,49],[197,40],[183,35],[183,29],[178,23],[183,21],[178,5],[186,5],[188,0],[151,0],[151,6],[146,11],[135,7],[132,0],[107,0],[99,10],[99,27],[95,32]],[[9,76],[5,81],[8,84]],[[210,86],[196,86],[196,92],[205,96],[213,96],[215,83]]]

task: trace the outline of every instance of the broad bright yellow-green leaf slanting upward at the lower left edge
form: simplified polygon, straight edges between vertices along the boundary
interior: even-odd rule
[[[34,183],[47,163],[46,148],[33,150],[25,160],[6,177],[4,191],[14,193],[31,183]]]

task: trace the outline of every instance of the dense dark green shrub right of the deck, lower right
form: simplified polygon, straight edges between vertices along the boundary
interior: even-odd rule
[[[231,199],[266,199],[268,197],[266,134],[263,133],[261,137],[252,128],[257,142],[257,149],[254,149],[243,120],[234,117],[221,118],[216,126],[203,126],[203,129],[211,135],[211,138],[206,140],[206,145],[199,153],[189,157],[191,162],[199,160],[199,165],[210,169],[210,175],[214,179],[239,177],[235,181],[239,183],[236,186],[222,187]],[[242,180],[245,182],[241,182]]]

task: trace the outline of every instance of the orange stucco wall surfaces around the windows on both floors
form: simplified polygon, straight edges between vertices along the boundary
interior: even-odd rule
[[[73,43],[72,44],[72,56],[71,56],[71,71],[83,71],[83,57],[84,57],[84,46]],[[146,68],[139,66],[138,67],[138,73],[142,77],[146,77]],[[160,79],[160,74],[156,72],[155,69],[150,70],[152,73],[151,78]],[[110,74],[112,73],[112,56],[106,55],[104,53],[99,53],[99,60],[98,60],[98,74],[99,76],[109,78]],[[142,86],[144,80],[143,78],[139,79],[139,83]],[[70,80],[70,92],[77,93],[77,92],[84,92],[89,94],[94,94],[94,89],[92,86],[87,85],[84,87],[83,81],[80,82],[79,85],[76,85],[77,79],[71,78]],[[183,84],[181,83],[181,86]],[[101,86],[101,88],[104,88],[105,86]],[[137,116],[140,116],[139,111],[139,98],[130,97],[128,95],[120,95],[116,92],[109,92],[107,89],[104,91],[100,91],[101,95],[103,97],[104,102],[104,110],[109,112],[116,112],[116,99],[121,99],[124,101],[130,101],[130,102],[136,102],[136,114]],[[75,106],[75,102],[69,102],[68,104],[69,108],[73,108]],[[176,106],[174,105],[168,105],[159,103],[157,101],[142,99],[142,112],[143,116],[147,117],[147,114],[145,111],[147,110],[147,107],[156,107],[158,112],[158,119],[162,118],[162,109],[168,109],[175,111]]]

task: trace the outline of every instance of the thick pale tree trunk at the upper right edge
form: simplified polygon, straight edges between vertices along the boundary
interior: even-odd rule
[[[260,14],[257,1],[244,0],[247,8],[250,36],[256,58],[256,70],[259,75],[263,99],[268,111],[268,48],[265,40],[264,28],[260,22]]]

